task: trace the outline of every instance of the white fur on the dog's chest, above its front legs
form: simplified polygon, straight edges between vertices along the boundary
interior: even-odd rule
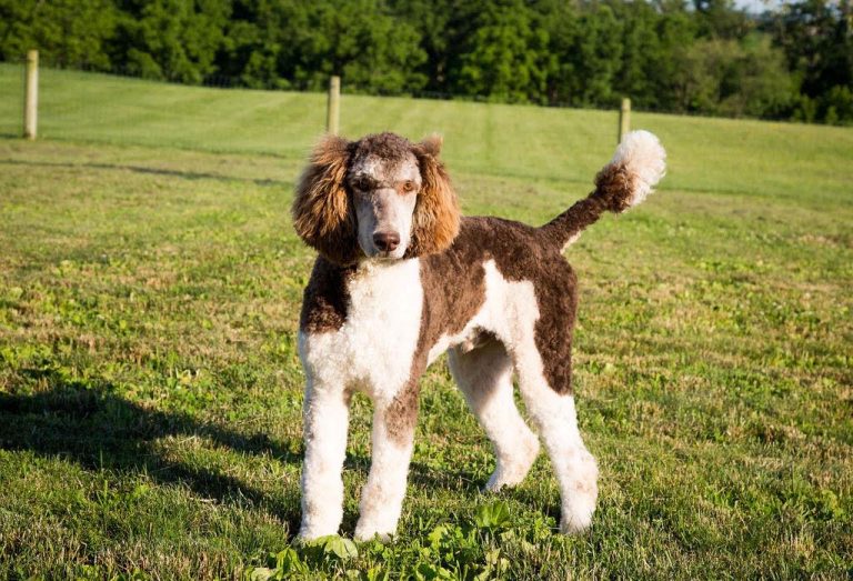
[[[420,261],[364,263],[348,293],[347,320],[338,331],[300,333],[305,371],[329,389],[354,387],[392,399],[409,379],[421,329]]]

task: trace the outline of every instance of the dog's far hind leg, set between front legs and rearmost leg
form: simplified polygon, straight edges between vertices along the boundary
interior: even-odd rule
[[[512,398],[512,361],[503,344],[489,340],[471,351],[449,351],[450,371],[492,441],[498,465],[486,490],[521,482],[539,454],[539,439]]]

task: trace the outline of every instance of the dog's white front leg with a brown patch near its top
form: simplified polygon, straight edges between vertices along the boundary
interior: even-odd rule
[[[361,492],[355,539],[379,535],[387,540],[394,534],[405,495],[417,419],[417,382],[403,387],[391,401],[374,401],[370,475]]]

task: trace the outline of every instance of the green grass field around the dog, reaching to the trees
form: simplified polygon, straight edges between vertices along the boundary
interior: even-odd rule
[[[541,457],[484,494],[489,443],[440,361],[398,539],[297,547],[313,256],[289,222],[319,94],[43,71],[41,141],[0,66],[0,579],[853,575],[853,131],[635,113],[661,190],[566,253],[601,467],[556,534]],[[615,113],[344,96],[342,130],[445,137],[466,213],[586,193]],[[369,468],[357,399],[344,538]],[[136,577],[134,577],[136,575]]]

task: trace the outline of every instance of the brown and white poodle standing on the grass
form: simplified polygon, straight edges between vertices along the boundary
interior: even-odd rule
[[[297,232],[317,249],[300,319],[305,370],[303,540],[334,534],[350,398],[374,404],[372,464],[357,539],[394,533],[418,413],[418,379],[441,353],[496,455],[489,490],[525,477],[539,439],[513,401],[513,372],[544,440],[562,499],[561,530],[588,528],[598,467],[574,410],[576,280],[562,251],[604,211],[645,199],[663,177],[653,134],[629,133],[595,190],[541,228],[461,218],[441,140],[327,137],[297,187]]]

